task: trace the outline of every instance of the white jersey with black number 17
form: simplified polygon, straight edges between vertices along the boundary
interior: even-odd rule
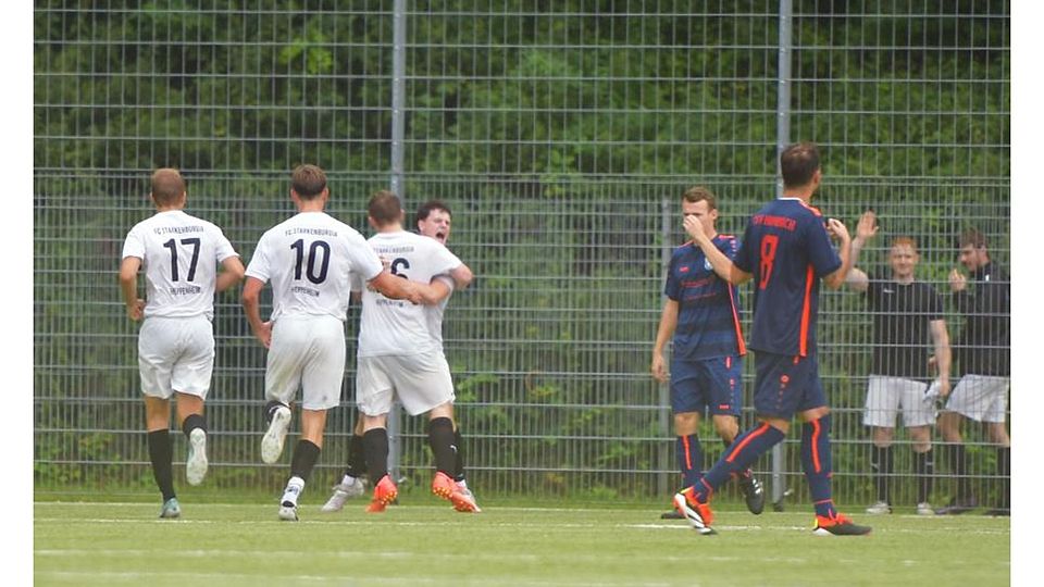
[[[145,317],[214,317],[217,264],[237,253],[221,228],[182,210],[158,212],[136,224],[123,258],[141,260]]]

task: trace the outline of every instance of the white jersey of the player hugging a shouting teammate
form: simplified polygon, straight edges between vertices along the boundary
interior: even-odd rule
[[[388,263],[393,275],[422,284],[461,265],[460,259],[439,241],[406,230],[377,233],[368,242]],[[440,349],[431,330],[427,307],[390,300],[362,288],[360,283],[355,289],[362,290],[359,357],[419,354]]]

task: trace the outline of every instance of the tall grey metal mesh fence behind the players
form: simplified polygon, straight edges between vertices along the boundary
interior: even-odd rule
[[[380,188],[408,209],[447,202],[450,247],[477,279],[450,302],[446,353],[471,485],[486,494],[661,499],[675,488],[668,392],[649,363],[667,260],[685,238],[679,199],[710,187],[719,229],[742,235],[778,192],[781,145],[820,145],[826,215],[854,233],[877,212],[862,268],[886,275],[891,239],[917,239],[917,277],[943,292],[953,341],[964,316],[947,274],[961,229],[982,230],[1007,265],[1007,2],[389,4],[37,2],[37,487],[151,487],[116,267],[126,232],[151,213],[158,166],[183,171],[188,210],[245,260],[291,213],[300,162],[327,170],[331,212],[359,228]],[[258,452],[264,352],[235,294],[216,305],[208,483],[274,491],[285,464]],[[872,319],[856,294],[822,295],[844,503],[875,497],[862,424]],[[356,417],[348,364],[320,461],[330,480]],[[749,426],[753,361],[744,384]],[[422,484],[423,430],[403,419],[399,435],[401,474]],[[978,426],[965,433],[975,490],[997,499],[994,445]],[[721,444],[709,426],[700,436],[709,464]],[[784,488],[807,499],[797,441],[792,432],[758,463],[766,477],[775,465],[776,499]],[[893,501],[912,504],[902,429],[895,446]],[[952,495],[937,483],[933,500]]]

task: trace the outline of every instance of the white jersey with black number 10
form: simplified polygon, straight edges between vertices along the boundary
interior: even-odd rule
[[[247,276],[272,280],[273,321],[331,315],[344,322],[352,276],[369,282],[382,268],[355,228],[325,212],[301,212],[261,236]]]

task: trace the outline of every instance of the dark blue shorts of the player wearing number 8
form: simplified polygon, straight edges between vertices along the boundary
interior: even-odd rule
[[[819,380],[819,359],[755,351],[754,409],[758,416],[791,420],[794,414],[826,405]]]

